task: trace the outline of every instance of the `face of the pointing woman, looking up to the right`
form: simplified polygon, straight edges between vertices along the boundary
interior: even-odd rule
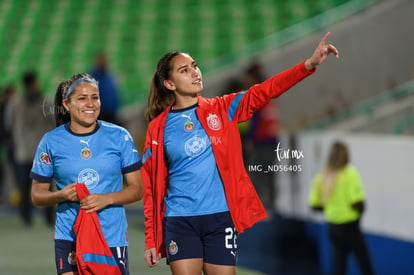
[[[197,98],[203,91],[201,71],[188,54],[180,54],[172,60],[171,77],[164,80],[167,89],[174,91],[176,101]]]

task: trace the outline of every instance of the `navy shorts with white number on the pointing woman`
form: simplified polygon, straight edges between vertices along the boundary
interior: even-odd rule
[[[237,236],[230,212],[164,217],[164,242],[168,262],[202,258],[217,265],[236,265]]]

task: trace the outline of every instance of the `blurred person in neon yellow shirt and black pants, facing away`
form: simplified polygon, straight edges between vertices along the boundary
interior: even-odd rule
[[[345,143],[333,143],[326,167],[313,181],[309,204],[323,211],[329,224],[333,250],[333,274],[346,274],[347,260],[354,253],[362,274],[374,274],[368,248],[360,229],[365,194],[357,169],[349,164]]]

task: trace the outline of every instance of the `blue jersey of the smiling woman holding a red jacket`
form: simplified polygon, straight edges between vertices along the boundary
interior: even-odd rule
[[[134,141],[124,128],[98,121],[93,132],[80,135],[64,124],[41,139],[30,176],[39,182],[54,179],[58,190],[78,181],[91,194],[104,194],[122,190],[122,175],[141,166]],[[78,211],[79,202],[59,203],[55,239],[76,240],[72,226]],[[123,205],[110,205],[98,211],[98,217],[108,246],[128,245]]]

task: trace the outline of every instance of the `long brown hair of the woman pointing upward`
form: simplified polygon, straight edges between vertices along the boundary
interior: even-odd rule
[[[168,80],[171,77],[171,71],[173,69],[172,60],[174,57],[183,53],[181,51],[171,51],[158,61],[157,70],[154,73],[149,88],[148,106],[145,110],[145,118],[148,122],[153,120],[174,102],[174,92],[164,86],[164,80]]]

